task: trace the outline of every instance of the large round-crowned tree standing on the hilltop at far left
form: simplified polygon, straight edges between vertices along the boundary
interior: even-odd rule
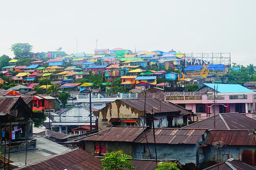
[[[33,49],[33,46],[29,43],[16,43],[12,44],[10,49],[13,51],[16,57],[27,56],[28,54],[30,54],[30,51]]]

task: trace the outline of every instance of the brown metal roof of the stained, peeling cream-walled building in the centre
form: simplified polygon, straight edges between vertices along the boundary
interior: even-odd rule
[[[121,102],[130,105],[131,107],[144,111],[145,99],[123,99]],[[160,112],[161,105],[161,112]],[[180,112],[180,114],[191,113],[189,110],[180,107],[171,102],[163,102],[161,104],[160,100],[157,99],[146,99],[146,113],[151,113],[153,109],[154,113],[164,113],[164,112]]]

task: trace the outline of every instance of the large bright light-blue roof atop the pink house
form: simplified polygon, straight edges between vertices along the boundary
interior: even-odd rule
[[[213,83],[203,83],[203,86],[198,88],[195,91],[198,91],[202,87],[209,87],[214,90],[215,85],[215,91],[219,93],[238,93],[238,92],[253,92],[250,89],[247,89],[244,86],[241,86],[240,84],[213,84]]]

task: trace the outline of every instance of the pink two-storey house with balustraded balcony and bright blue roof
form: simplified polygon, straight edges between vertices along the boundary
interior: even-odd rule
[[[196,92],[165,96],[165,101],[192,110],[199,120],[211,117],[214,113],[239,112],[253,117],[251,113],[255,112],[256,93],[239,84],[204,83]]]

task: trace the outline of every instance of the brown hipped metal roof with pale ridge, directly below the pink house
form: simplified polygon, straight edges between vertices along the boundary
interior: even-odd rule
[[[256,120],[240,113],[226,113],[218,114],[215,116],[215,128],[214,116],[190,124],[188,126],[185,126],[184,128],[208,128],[215,130],[248,130],[256,128]]]

